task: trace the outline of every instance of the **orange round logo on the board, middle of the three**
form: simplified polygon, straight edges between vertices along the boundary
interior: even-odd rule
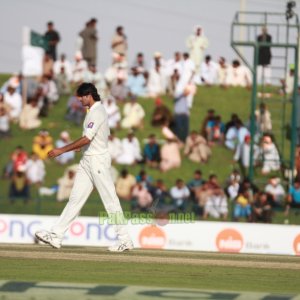
[[[216,246],[220,252],[240,252],[243,243],[242,235],[231,228],[222,230],[216,238]]]

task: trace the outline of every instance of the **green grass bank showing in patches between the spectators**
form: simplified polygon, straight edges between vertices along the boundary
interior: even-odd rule
[[[7,79],[8,76],[0,76],[0,84]],[[220,89],[219,87],[200,87],[194,99],[194,106],[191,112],[190,128],[199,130],[201,128],[204,116],[209,108],[214,108],[216,114],[220,114],[224,122],[229,120],[232,113],[237,113],[243,121],[247,121],[250,113],[250,96],[251,91],[243,88],[229,88],[227,90]],[[277,97],[278,98],[278,97]],[[61,97],[58,104],[56,104],[50,111],[49,117],[42,119],[42,128],[47,128],[54,138],[57,140],[62,130],[68,130],[71,134],[71,138],[74,140],[81,135],[81,127],[75,126],[64,120],[64,114],[66,110],[66,103],[68,97]],[[170,97],[163,97],[164,103],[171,109],[173,108],[173,102]],[[140,141],[146,138],[150,133],[156,133],[160,138],[161,132],[159,128],[152,128],[150,126],[150,118],[154,109],[154,101],[152,99],[141,99],[140,103],[143,105],[146,111],[145,128],[137,131],[136,135]],[[279,104],[278,104],[279,105]],[[274,111],[274,118],[279,118],[278,112],[280,107],[272,104],[273,107],[277,107],[276,112]],[[276,123],[277,124],[277,123]],[[276,132],[279,130],[281,125],[274,127]],[[18,145],[23,145],[24,148],[30,152],[33,137],[38,133],[39,130],[22,131],[17,125],[12,126],[12,137],[10,139],[1,140],[1,156],[0,156],[0,168],[3,169],[9,159],[10,153]],[[279,132],[279,131],[278,131]],[[119,137],[124,137],[127,131],[120,130],[116,133]],[[141,145],[143,145],[141,143]],[[288,147],[286,147],[288,149]],[[233,153],[222,146],[215,146],[212,149],[212,157],[207,164],[195,164],[188,159],[184,158],[182,166],[179,169],[173,169],[167,173],[161,173],[158,170],[147,169],[149,175],[154,179],[161,178],[165,181],[168,187],[174,185],[177,178],[182,178],[188,181],[192,178],[193,171],[200,168],[204,174],[204,178],[207,178],[210,174],[217,174],[220,183],[224,183],[233,168],[238,167],[233,160]],[[80,154],[76,154],[76,162],[80,159]],[[116,166],[118,170],[121,170],[121,166]],[[130,173],[137,175],[143,166],[137,165],[129,167]],[[58,165],[55,161],[46,161],[46,179],[44,186],[55,185],[57,179],[63,175],[64,166]],[[259,183],[265,183],[267,178],[262,178],[259,175],[259,170],[256,171],[256,175],[259,178]],[[31,201],[27,205],[23,205],[22,202],[15,203],[14,205],[8,202],[8,181],[0,180],[0,211],[2,213],[28,213],[28,214],[47,214],[56,215],[61,212],[64,204],[56,203],[53,197],[44,197],[38,201],[37,189],[35,187],[31,190]],[[129,203],[122,203],[124,209],[129,209]],[[82,215],[95,215],[99,209],[103,206],[99,201],[96,193],[93,193],[88,203],[82,211]],[[283,222],[282,213],[277,213],[275,216],[275,222]],[[297,218],[291,216],[291,223],[297,223]]]

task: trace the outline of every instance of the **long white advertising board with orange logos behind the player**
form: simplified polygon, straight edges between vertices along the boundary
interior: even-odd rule
[[[53,216],[0,214],[0,243],[35,243],[35,231],[50,229]],[[132,219],[129,230],[137,248],[300,255],[300,226],[229,222],[151,222]],[[108,220],[79,217],[64,245],[108,246],[116,240]]]

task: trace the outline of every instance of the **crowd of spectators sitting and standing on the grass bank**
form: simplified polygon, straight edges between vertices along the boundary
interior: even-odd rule
[[[131,201],[133,210],[147,211],[155,203],[157,209],[166,211],[184,212],[190,209],[204,219],[226,220],[231,217],[234,220],[245,218],[247,221],[271,222],[274,207],[282,207],[288,213],[291,206],[300,203],[297,183],[286,197],[278,177],[271,177],[263,190],[258,190],[245,177],[252,139],[253,162],[261,167],[261,173],[267,175],[281,168],[272,134],[271,113],[265,103],[261,103],[255,111],[253,136],[250,135],[249,121],[243,122],[237,114],[232,114],[231,119],[224,122],[223,116],[216,114],[214,109],[208,110],[198,130],[190,130],[190,113],[197,86],[250,88],[251,76],[246,66],[238,60],[228,64],[224,57],[216,62],[207,55],[209,41],[200,26],[196,26],[194,33],[188,37],[187,52],[176,51],[170,59],[155,52],[149,64],[144,54],[139,52],[130,64],[125,29],[118,26],[111,42],[112,63],[100,73],[97,69],[96,25],[96,19],[86,23],[76,40],[74,59],[70,61],[65,54],[57,57],[60,35],[54,24],[48,23],[45,36],[49,48],[43,61],[43,75],[26,78],[26,90],[22,74],[13,75],[1,88],[0,138],[11,136],[12,123],[18,124],[24,131],[40,128],[41,118],[51,115],[52,106],[61,101],[62,95],[69,97],[65,119],[81,125],[85,109],[72,91],[81,82],[92,82],[108,114],[111,129],[108,147],[113,165],[123,166],[119,176],[112,168],[117,193],[122,200]],[[284,84],[286,82],[284,80]],[[164,95],[173,99],[173,109],[163,103]],[[160,128],[162,138],[154,133],[144,140],[137,138],[136,133],[143,132],[145,126],[142,98],[154,99],[150,122],[152,128]],[[127,130],[122,139],[116,134],[120,129]],[[57,184],[46,188],[43,183],[47,153],[54,146],[62,147],[70,142],[68,131],[62,131],[54,142],[50,132],[41,129],[33,138],[30,155],[21,146],[15,149],[4,170],[4,176],[11,180],[9,197],[12,202],[16,197],[28,201],[31,185],[38,185],[42,195],[56,193],[57,201],[68,199],[76,173],[76,166],[70,166],[74,163],[74,152],[56,159],[58,164],[67,165]],[[209,162],[213,147],[231,150],[233,161],[241,166],[241,174],[234,171],[225,185],[219,183],[217,175],[210,175],[204,180],[200,169],[195,171],[190,181],[185,183],[178,178],[169,188],[162,179],[153,180],[146,173],[147,168],[161,172],[179,168],[183,156],[200,167]],[[142,171],[134,176],[128,168],[136,164],[141,165]],[[229,216],[229,211],[232,211],[232,216]]]

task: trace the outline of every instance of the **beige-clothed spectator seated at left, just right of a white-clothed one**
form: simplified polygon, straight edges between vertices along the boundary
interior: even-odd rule
[[[35,129],[41,126],[39,119],[40,109],[37,99],[31,99],[25,104],[20,115],[20,127],[25,130]]]

